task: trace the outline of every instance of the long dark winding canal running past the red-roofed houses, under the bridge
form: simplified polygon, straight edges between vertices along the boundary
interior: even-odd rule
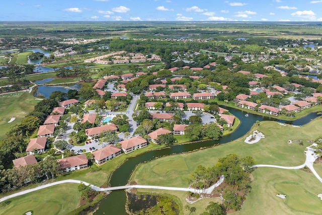
[[[235,140],[245,135],[257,120],[258,121],[272,120],[272,121],[278,121],[278,122],[288,123],[293,125],[303,125],[317,117],[316,113],[310,113],[294,121],[285,121],[285,120],[277,120],[271,117],[255,115],[252,113],[248,113],[247,111],[241,111],[241,110],[233,109],[226,106],[223,106],[223,108],[229,110],[231,114],[235,115],[240,120],[239,127],[233,133],[227,136],[224,136],[217,141],[207,140],[207,141],[195,142],[193,144],[176,145],[170,148],[166,148],[162,150],[154,150],[154,151],[143,153],[133,158],[129,158],[118,169],[114,171],[110,180],[111,186],[125,185],[128,182],[133,169],[135,169],[135,167],[138,164],[146,161],[150,161],[156,157],[163,157],[163,156],[169,156],[172,154],[191,152],[193,150],[197,150],[203,147],[211,147],[216,144],[225,144],[226,142]],[[245,114],[247,113],[249,114],[248,117],[245,116]],[[119,215],[124,214],[125,215],[127,214],[124,206],[125,202],[126,202],[126,194],[124,190],[113,191],[104,199],[102,199],[99,209],[94,214],[119,214]]]

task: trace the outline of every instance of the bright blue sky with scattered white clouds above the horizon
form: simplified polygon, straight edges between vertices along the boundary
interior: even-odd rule
[[[0,21],[322,21],[322,0],[11,0]]]

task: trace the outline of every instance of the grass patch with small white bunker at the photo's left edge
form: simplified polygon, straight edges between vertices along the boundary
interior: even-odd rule
[[[11,93],[0,95],[0,139],[6,136],[10,126],[21,123],[21,120],[30,113],[39,102],[27,92]],[[12,118],[16,119],[8,123]]]

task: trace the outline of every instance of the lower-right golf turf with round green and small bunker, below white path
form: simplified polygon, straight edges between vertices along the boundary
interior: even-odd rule
[[[312,173],[302,170],[258,168],[252,191],[235,214],[320,214],[321,183]],[[276,196],[286,195],[286,199]]]

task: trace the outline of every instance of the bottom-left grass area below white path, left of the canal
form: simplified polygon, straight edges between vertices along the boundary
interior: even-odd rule
[[[66,214],[79,204],[78,184],[66,183],[27,193],[0,203],[0,214]]]

